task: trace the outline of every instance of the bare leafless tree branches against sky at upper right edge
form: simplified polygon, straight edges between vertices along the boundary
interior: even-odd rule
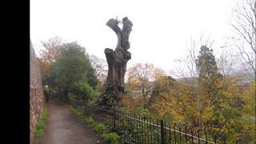
[[[253,71],[256,78],[256,1],[239,1],[233,14],[235,50],[241,55],[246,71]]]

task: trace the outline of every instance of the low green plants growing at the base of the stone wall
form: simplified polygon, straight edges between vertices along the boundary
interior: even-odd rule
[[[46,123],[48,121],[48,118],[49,118],[49,111],[48,111],[47,107],[45,107],[42,112],[42,118],[36,124],[36,129],[35,129],[35,138],[36,139],[42,138],[42,136],[44,134],[44,130],[46,128]]]

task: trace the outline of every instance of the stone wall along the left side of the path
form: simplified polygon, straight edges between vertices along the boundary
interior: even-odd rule
[[[34,143],[35,126],[38,118],[42,117],[44,106],[42,92],[42,77],[34,48],[30,41],[30,143]]]

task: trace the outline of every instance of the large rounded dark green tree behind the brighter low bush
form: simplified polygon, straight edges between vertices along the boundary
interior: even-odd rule
[[[54,82],[59,88],[61,100],[67,100],[67,93],[75,83],[86,82],[91,87],[97,85],[97,78],[84,47],[77,42],[64,43],[62,53],[54,66]]]

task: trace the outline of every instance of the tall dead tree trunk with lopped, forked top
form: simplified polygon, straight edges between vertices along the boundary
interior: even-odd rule
[[[120,102],[125,88],[124,77],[126,74],[126,64],[131,58],[130,52],[128,51],[130,48],[129,35],[133,26],[127,17],[122,18],[122,30],[118,26],[118,23],[118,20],[113,18],[106,22],[106,26],[109,26],[117,34],[118,45],[115,50],[105,49],[106,62],[109,66],[106,81],[114,86],[114,100],[116,102]]]

